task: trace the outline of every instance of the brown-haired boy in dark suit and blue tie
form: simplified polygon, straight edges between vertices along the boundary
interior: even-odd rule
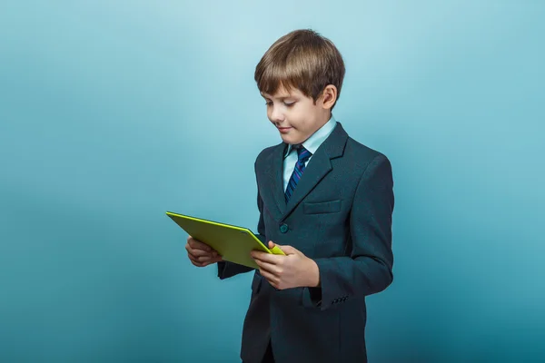
[[[282,36],[255,81],[282,142],[255,162],[257,231],[286,256],[253,251],[252,296],[241,358],[257,362],[365,362],[365,297],[392,281],[389,160],[354,141],[332,116],[342,56],[311,30]],[[250,268],[188,238],[196,266],[227,279]]]

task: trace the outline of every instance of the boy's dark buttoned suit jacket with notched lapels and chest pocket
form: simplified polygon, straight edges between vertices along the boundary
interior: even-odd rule
[[[337,123],[308,162],[287,205],[282,142],[255,162],[259,238],[301,250],[321,286],[277,290],[259,270],[218,263],[220,279],[255,271],[241,358],[261,362],[269,339],[278,363],[366,362],[365,297],[392,281],[393,180],[389,160]]]

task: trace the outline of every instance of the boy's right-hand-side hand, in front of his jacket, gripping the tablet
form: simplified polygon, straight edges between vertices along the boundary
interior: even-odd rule
[[[277,246],[286,256],[274,255],[259,250],[252,251],[253,260],[262,276],[276,289],[316,287],[320,285],[318,265],[292,246]],[[269,241],[269,248],[274,243]]]

